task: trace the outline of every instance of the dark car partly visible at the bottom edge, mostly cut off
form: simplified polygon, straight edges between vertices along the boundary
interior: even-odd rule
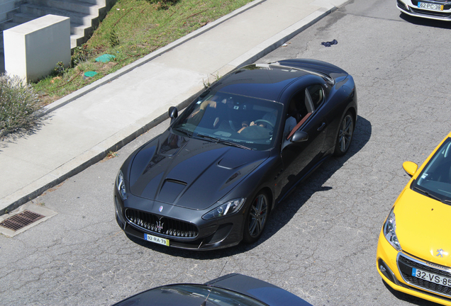
[[[113,306],[311,306],[301,297],[263,280],[233,273],[200,284],[153,288]]]

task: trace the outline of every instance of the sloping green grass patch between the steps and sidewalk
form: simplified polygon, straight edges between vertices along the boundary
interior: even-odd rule
[[[71,67],[32,84],[47,105],[215,21],[252,0],[118,0],[84,44]],[[108,63],[100,55],[114,55]],[[84,79],[84,72],[97,72]]]

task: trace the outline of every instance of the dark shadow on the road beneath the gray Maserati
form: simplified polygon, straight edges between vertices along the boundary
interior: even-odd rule
[[[306,188],[303,189],[304,183],[299,184],[299,186],[296,187],[291,193],[291,196],[296,195],[297,200],[296,202],[294,202],[295,204],[290,203],[289,205],[286,205],[286,203],[289,202],[289,198],[291,198],[291,196],[288,196],[286,200],[281,203],[281,205],[278,205],[278,207],[274,209],[274,212],[272,212],[272,214],[269,216],[267,227],[265,228],[265,232],[263,232],[262,237],[254,244],[242,243],[238,244],[238,246],[233,246],[228,249],[217,249],[213,251],[191,251],[168,248],[167,246],[160,246],[151,242],[145,242],[143,239],[134,237],[128,238],[136,244],[140,244],[141,246],[160,253],[165,253],[170,256],[179,256],[200,260],[220,259],[249,251],[250,249],[253,249],[256,246],[264,243],[267,239],[276,234],[279,229],[282,229],[282,227],[284,227],[291,220],[291,218],[296,215],[296,212],[302,207],[302,205],[304,205],[304,203],[306,203],[306,201],[313,195],[313,193],[330,190],[331,187],[323,186],[325,181],[328,181],[330,176],[332,176],[335,171],[340,169],[348,159],[359,152],[364,147],[364,145],[367,144],[371,135],[371,123],[365,118],[357,116],[354,137],[347,154],[344,157],[340,158],[330,158],[318,169],[316,169],[316,171],[314,171],[313,174],[311,174],[311,176],[309,177],[310,186],[308,190],[306,190]],[[311,182],[314,183],[312,184]],[[280,209],[281,207],[283,207],[283,210]]]

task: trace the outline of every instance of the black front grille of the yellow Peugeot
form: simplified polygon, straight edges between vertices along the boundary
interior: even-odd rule
[[[427,280],[423,280],[421,278],[416,278],[414,276],[411,276],[411,268],[418,268],[423,271],[428,271],[430,273],[435,273],[440,276],[450,278],[451,279],[451,273],[447,271],[440,270],[438,268],[433,268],[431,266],[426,265],[425,263],[420,263],[418,261],[413,261],[411,259],[408,259],[406,256],[403,256],[402,254],[398,256],[398,266],[399,271],[401,272],[401,275],[403,276],[404,280],[406,280],[407,283],[410,283],[411,285],[415,285],[418,288],[423,288],[425,290],[431,291],[433,293],[440,293],[442,295],[447,295],[451,297],[451,288],[440,285],[437,283],[431,283]]]

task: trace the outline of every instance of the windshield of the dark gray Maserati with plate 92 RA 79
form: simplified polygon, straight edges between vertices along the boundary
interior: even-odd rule
[[[206,91],[177,118],[172,130],[244,149],[274,146],[283,106],[274,101]]]

